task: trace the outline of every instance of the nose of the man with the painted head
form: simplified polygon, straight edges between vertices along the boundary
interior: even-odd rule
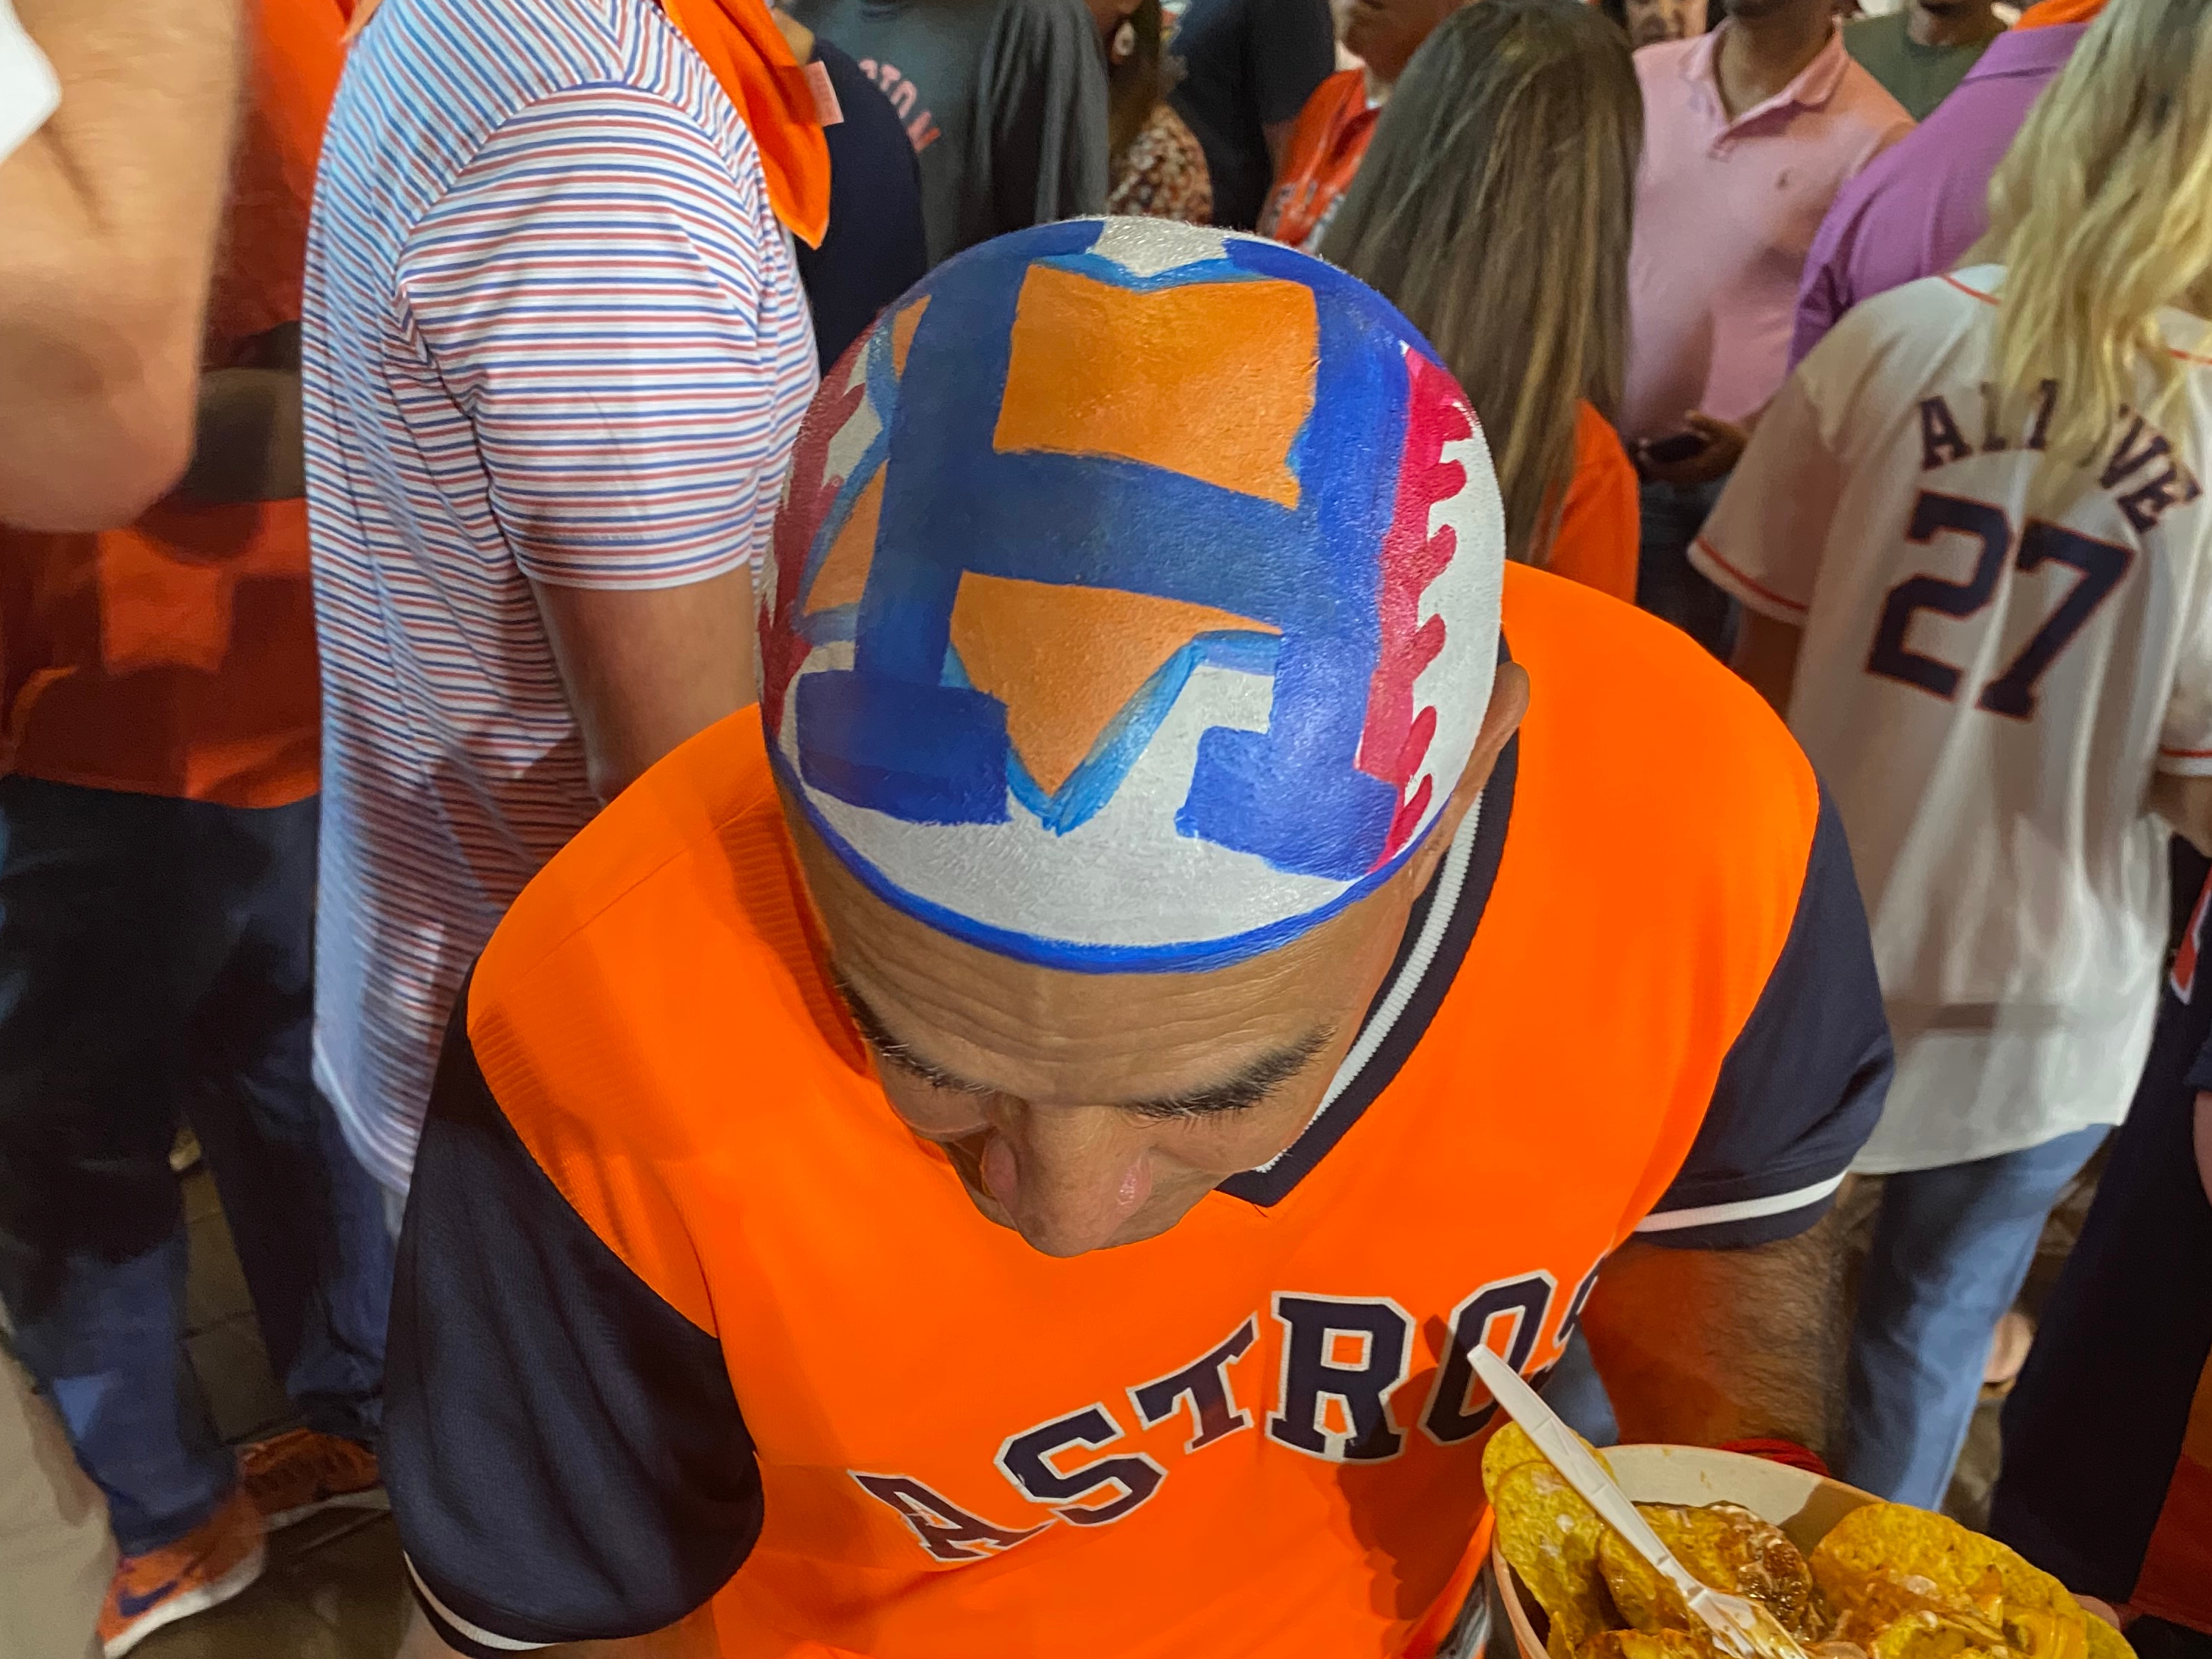
[[[1099,1250],[1152,1197],[1144,1139],[1106,1108],[1022,1106],[993,1124],[982,1179],[1048,1256]]]

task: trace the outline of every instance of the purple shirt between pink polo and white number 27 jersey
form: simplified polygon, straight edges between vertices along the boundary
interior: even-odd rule
[[[1989,230],[1989,175],[2086,22],[2013,29],[1920,128],[1836,192],[1798,285],[1790,367],[1871,294],[1951,270]]]

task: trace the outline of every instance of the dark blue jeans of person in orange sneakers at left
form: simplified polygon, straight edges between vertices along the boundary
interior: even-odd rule
[[[314,845],[312,799],[0,779],[0,1301],[126,1555],[237,1482],[184,1354],[179,1119],[301,1418],[380,1427],[392,1241],[307,1073]]]

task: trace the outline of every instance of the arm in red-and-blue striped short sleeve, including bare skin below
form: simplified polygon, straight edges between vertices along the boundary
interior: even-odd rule
[[[659,100],[560,93],[484,146],[400,261],[602,799],[752,701],[752,560],[814,385],[774,228],[730,210],[701,237],[668,173],[726,166]]]

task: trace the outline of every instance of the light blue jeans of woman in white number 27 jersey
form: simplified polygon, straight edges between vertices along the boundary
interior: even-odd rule
[[[2106,1133],[1885,1177],[1851,1327],[1843,1480],[1942,1509],[1997,1321],[2051,1206]]]

